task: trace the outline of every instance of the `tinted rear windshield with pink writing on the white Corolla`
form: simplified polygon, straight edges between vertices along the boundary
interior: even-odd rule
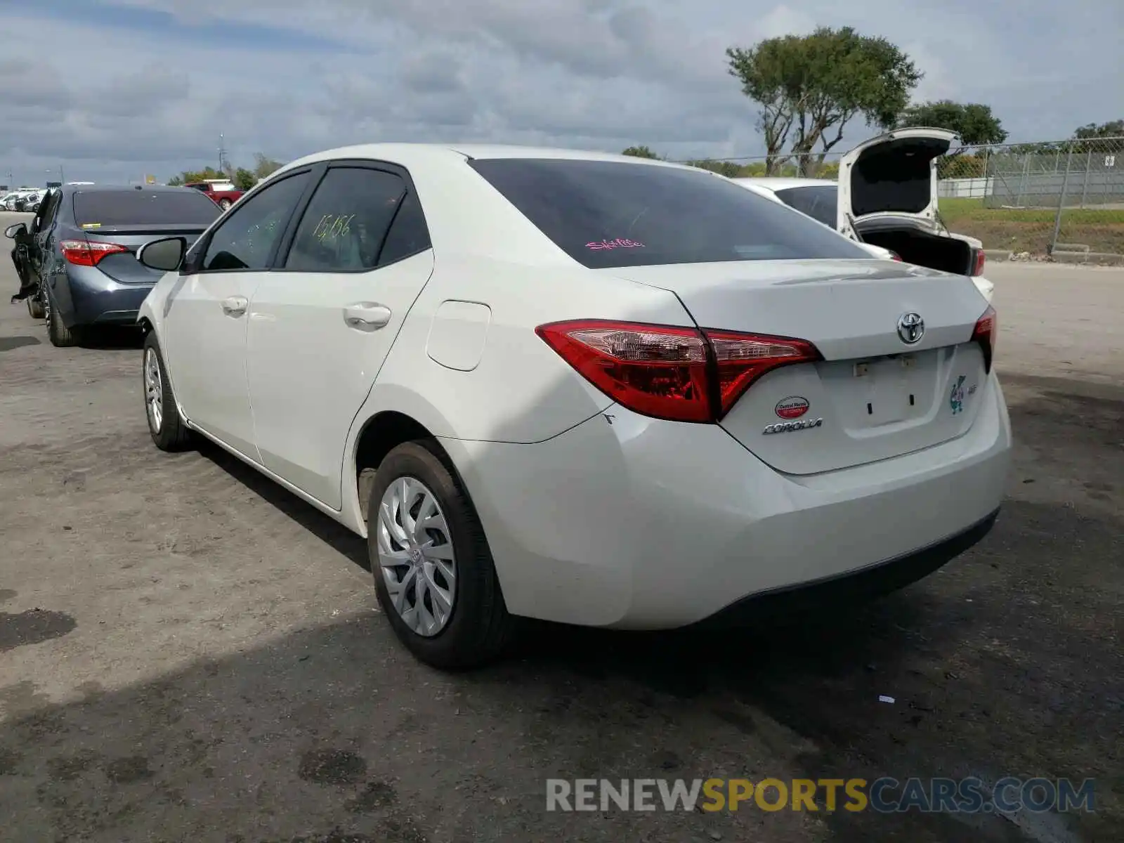
[[[590,269],[868,257],[807,217],[704,170],[581,160],[470,163]]]

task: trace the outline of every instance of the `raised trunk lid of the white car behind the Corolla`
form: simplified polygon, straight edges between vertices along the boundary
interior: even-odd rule
[[[851,149],[840,161],[836,227],[859,238],[862,220],[879,215],[937,223],[936,160],[957,140],[948,129],[896,129]]]

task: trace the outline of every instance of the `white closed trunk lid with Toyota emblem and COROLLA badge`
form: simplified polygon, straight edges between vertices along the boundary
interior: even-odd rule
[[[722,426],[778,471],[814,474],[963,435],[987,372],[968,278],[885,261],[753,261],[615,270],[679,296],[699,327],[813,343],[765,373]],[[916,315],[923,333],[915,342]],[[904,323],[904,324],[903,324]],[[904,339],[905,337],[905,339]]]

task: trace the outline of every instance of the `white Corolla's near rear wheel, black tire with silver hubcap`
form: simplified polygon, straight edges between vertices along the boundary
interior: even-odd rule
[[[368,482],[371,571],[399,641],[441,670],[499,658],[514,619],[475,509],[436,446],[397,446]]]

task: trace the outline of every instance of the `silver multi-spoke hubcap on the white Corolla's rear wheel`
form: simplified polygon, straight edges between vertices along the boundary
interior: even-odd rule
[[[377,544],[395,610],[418,635],[439,633],[456,601],[456,555],[436,496],[417,478],[398,478],[383,492]]]

